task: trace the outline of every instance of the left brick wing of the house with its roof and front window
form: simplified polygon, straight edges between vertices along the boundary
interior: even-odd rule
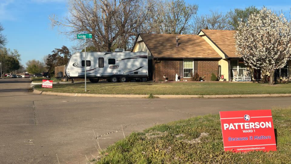
[[[175,80],[176,73],[181,80],[191,80],[191,72],[199,73],[210,81],[211,74],[218,76],[218,62],[221,56],[197,35],[139,34],[132,52],[148,53],[149,79]]]

